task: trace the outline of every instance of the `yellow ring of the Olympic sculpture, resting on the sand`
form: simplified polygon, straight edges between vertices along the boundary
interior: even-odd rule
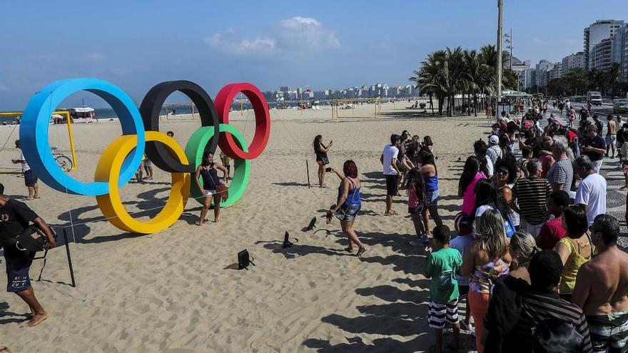
[[[186,165],[188,158],[176,141],[158,131],[146,131],[146,141],[156,141],[170,150],[173,158]],[[174,224],[183,213],[190,194],[190,173],[171,173],[171,193],[166,205],[154,218],[146,222],[139,222],[131,217],[120,198],[118,178],[126,156],[138,145],[137,135],[122,135],[107,146],[96,167],[96,181],[108,182],[108,193],[96,196],[98,206],[103,215],[116,227],[128,232],[151,234],[166,229]]]

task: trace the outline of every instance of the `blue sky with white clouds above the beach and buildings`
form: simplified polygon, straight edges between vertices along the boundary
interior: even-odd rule
[[[51,81],[85,76],[138,102],[172,79],[195,81],[211,96],[237,81],[262,91],[407,84],[430,51],[495,43],[496,4],[0,0],[0,111],[23,109]],[[611,18],[628,21],[625,0],[505,0],[515,56],[533,63],[581,51],[584,27]]]

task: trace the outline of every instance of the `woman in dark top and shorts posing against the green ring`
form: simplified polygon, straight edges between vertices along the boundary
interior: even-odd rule
[[[214,163],[213,153],[203,153],[203,162],[196,168],[196,185],[198,190],[205,195],[205,201],[203,202],[203,208],[201,209],[201,219],[196,222],[197,225],[203,225],[205,222],[205,216],[207,210],[211,206],[211,200],[213,199],[213,221],[218,222],[218,217],[221,215],[221,199],[226,193],[226,188],[221,183],[221,178],[218,178],[218,170],[223,173],[227,173],[227,168],[223,165]],[[201,186],[201,180],[203,185]]]

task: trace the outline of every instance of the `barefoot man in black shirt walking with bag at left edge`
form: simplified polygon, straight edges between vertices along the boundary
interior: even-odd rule
[[[56,240],[46,222],[24,203],[7,198],[4,195],[4,185],[0,184],[0,247],[4,247],[6,291],[15,293],[29,305],[31,319],[28,325],[35,326],[44,321],[48,317],[48,313],[37,301],[29,278],[34,253],[22,252],[14,244],[9,244],[6,241],[26,230],[31,222],[48,237],[48,248],[55,247]]]

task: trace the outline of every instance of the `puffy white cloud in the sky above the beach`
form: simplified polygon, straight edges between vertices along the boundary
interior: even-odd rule
[[[272,27],[269,34],[254,39],[241,38],[229,29],[205,39],[211,48],[232,55],[264,54],[280,52],[303,53],[340,48],[336,32],[325,28],[320,21],[294,16],[283,19]]]

